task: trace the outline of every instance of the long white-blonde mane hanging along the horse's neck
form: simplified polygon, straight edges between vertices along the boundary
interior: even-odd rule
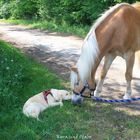
[[[117,4],[107,10],[96,22],[93,24],[92,28],[90,29],[89,33],[87,34],[83,46],[80,58],[77,62],[78,73],[82,82],[88,80],[91,77],[92,68],[95,64],[95,61],[99,55],[99,47],[98,42],[96,40],[95,30],[96,28],[117,8],[122,5],[129,5],[127,3]],[[74,79],[74,78],[73,78]]]

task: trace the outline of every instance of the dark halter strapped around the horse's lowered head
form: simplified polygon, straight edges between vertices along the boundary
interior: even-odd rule
[[[96,88],[96,86],[95,86],[95,88]],[[74,90],[73,90],[73,93],[75,95],[80,95],[81,97],[84,97],[84,98],[91,98],[93,96],[91,93],[90,93],[90,96],[85,96],[85,95],[83,95],[83,92],[86,89],[89,89],[90,91],[95,91],[95,88],[94,89],[90,88],[88,82],[86,81],[85,85],[83,86],[83,88],[81,89],[81,91],[79,93]]]

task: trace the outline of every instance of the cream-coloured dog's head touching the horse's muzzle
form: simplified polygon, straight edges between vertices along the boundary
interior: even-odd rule
[[[52,89],[51,92],[56,100],[70,100],[72,98],[72,94],[67,90]]]

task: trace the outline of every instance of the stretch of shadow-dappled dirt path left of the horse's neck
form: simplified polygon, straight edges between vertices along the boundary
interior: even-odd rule
[[[76,62],[82,45],[78,37],[5,23],[0,23],[0,38],[30,54],[64,79],[69,75],[66,65]]]

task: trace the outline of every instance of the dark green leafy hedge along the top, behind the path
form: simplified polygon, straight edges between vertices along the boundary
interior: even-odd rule
[[[135,0],[0,0],[0,17],[90,25],[109,6]]]

